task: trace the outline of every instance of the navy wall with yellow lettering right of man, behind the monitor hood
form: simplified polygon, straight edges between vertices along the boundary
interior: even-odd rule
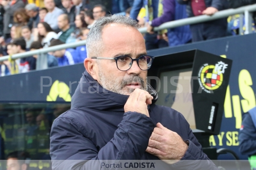
[[[196,42],[175,48],[166,48],[161,53],[176,53],[191,49],[226,55],[227,58],[233,60],[221,132],[218,136],[211,136],[209,141],[213,147],[232,149],[240,159],[247,159],[247,156],[239,153],[238,135],[243,113],[256,105],[256,34]],[[157,51],[150,51],[149,54],[158,56]],[[227,156],[219,156],[219,159],[233,159]]]

